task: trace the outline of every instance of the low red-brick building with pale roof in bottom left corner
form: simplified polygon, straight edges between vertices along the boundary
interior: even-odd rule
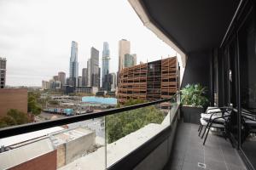
[[[56,150],[49,139],[26,144],[0,153],[0,169],[55,170]]]

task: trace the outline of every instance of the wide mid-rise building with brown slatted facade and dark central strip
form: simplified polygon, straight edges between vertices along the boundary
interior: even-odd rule
[[[124,68],[119,72],[118,100],[168,99],[179,89],[177,57]]]

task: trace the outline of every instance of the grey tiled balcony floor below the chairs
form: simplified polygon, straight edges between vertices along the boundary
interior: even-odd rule
[[[230,141],[221,136],[209,133],[207,143],[198,137],[198,125],[180,122],[177,126],[177,136],[174,141],[172,156],[165,170],[244,170],[236,149]],[[198,162],[206,168],[198,167]]]

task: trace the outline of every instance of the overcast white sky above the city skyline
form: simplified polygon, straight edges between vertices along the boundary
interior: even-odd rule
[[[131,41],[137,63],[175,52],[142,21],[127,0],[0,0],[0,57],[7,58],[7,85],[41,86],[64,71],[71,42],[79,43],[79,76],[90,58],[109,43],[110,72],[118,68],[118,41]]]

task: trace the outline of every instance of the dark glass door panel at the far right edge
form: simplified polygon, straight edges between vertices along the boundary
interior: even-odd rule
[[[256,26],[255,9],[239,31],[241,74],[241,149],[256,167]]]

